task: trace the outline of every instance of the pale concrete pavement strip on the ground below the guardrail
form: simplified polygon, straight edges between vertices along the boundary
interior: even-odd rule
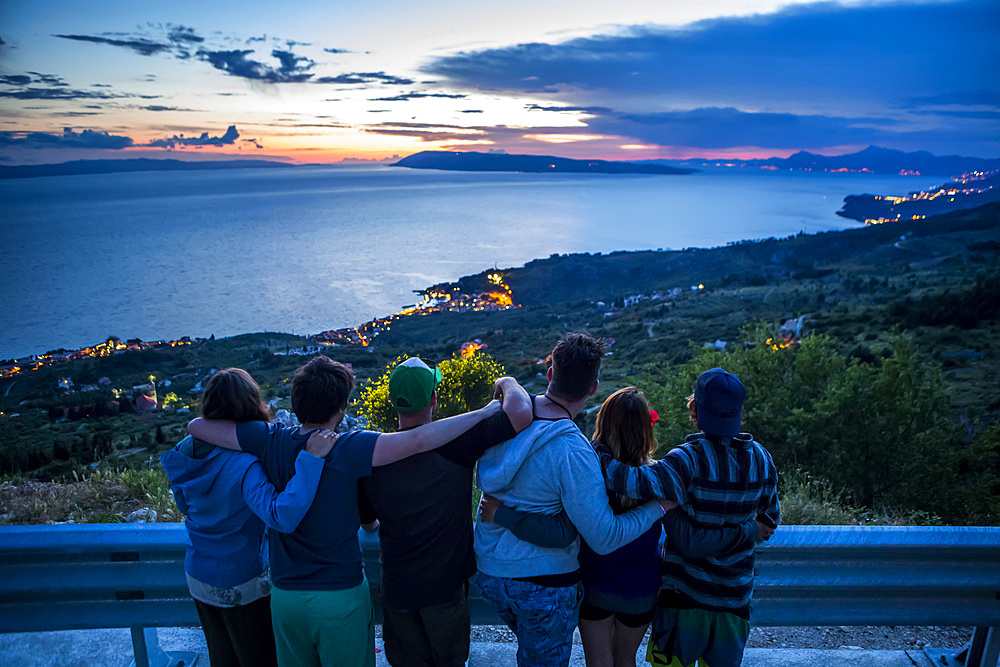
[[[160,644],[169,652],[195,652],[195,667],[210,667],[205,636],[200,628],[160,628]],[[376,641],[381,648],[382,640]],[[469,665],[514,665],[516,644],[476,642]],[[645,664],[640,652],[639,665]],[[17,667],[128,667],[132,643],[128,630],[66,630],[0,634],[0,665]],[[375,664],[385,667],[385,654]],[[573,646],[572,667],[583,667],[583,649]],[[921,651],[866,651],[863,649],[748,649],[743,667],[933,667]]]

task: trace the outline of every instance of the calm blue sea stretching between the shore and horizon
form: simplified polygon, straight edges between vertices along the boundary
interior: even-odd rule
[[[109,334],[316,333],[552,253],[851,227],[834,215],[845,195],[925,180],[303,167],[0,181],[0,358]]]

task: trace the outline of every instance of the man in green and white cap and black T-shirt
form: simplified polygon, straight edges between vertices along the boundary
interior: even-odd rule
[[[389,376],[405,431],[429,423],[441,372],[411,357]],[[362,521],[380,521],[382,637],[393,667],[463,665],[469,657],[469,578],[476,572],[472,469],[488,448],[531,423],[531,401],[514,378],[496,382],[502,410],[443,447],[375,468],[362,480]],[[370,514],[365,510],[370,502]],[[568,519],[552,532],[572,540]]]

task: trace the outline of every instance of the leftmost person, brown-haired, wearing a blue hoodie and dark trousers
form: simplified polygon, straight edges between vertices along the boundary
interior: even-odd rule
[[[202,413],[235,421],[270,416],[260,387],[239,368],[209,379]],[[312,505],[332,442],[310,438],[280,493],[252,454],[188,436],[160,457],[185,516],[184,571],[213,667],[277,664],[265,526],[279,532],[298,527]]]

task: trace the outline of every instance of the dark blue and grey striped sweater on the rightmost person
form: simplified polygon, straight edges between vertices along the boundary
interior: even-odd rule
[[[674,500],[694,526],[739,526],[757,518],[778,525],[777,471],[771,455],[741,433],[734,438],[689,435],[648,466],[633,467],[602,454],[608,487],[639,500]],[[705,558],[684,558],[669,540],[661,553],[664,590],[692,606],[749,618],[754,546]]]

